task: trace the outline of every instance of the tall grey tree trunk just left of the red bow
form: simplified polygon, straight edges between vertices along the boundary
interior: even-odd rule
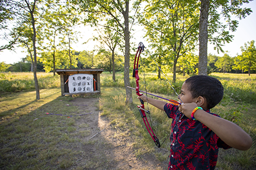
[[[130,86],[129,67],[130,67],[130,32],[129,32],[129,1],[126,1],[126,11],[124,15],[124,86],[126,87],[126,103],[133,103],[132,89],[127,88]]]

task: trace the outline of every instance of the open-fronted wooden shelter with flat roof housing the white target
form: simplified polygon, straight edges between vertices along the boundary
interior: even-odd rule
[[[85,93],[95,93],[95,94],[100,94],[100,74],[103,72],[103,69],[98,69],[98,68],[94,68],[94,69],[56,69],[56,73],[60,75],[60,88],[61,88],[61,93],[62,96],[65,95],[72,95],[72,94],[85,94]],[[78,76],[78,78],[80,77],[79,75],[88,75],[88,79],[90,79],[89,77],[93,77],[93,80],[90,80],[92,83],[91,86],[92,88],[87,87],[88,90],[90,90],[89,92],[86,91],[85,86],[88,79],[86,79],[86,76],[82,77],[83,81],[82,84],[84,85],[84,90],[82,90],[81,87],[78,86],[82,86],[81,83],[75,83],[73,82],[73,85],[76,87],[78,87],[78,91],[76,89],[76,87],[71,87],[72,84],[71,80],[69,80],[69,77],[71,76]],[[75,78],[72,77],[72,79],[75,81]],[[79,80],[81,80],[81,77],[79,78]],[[88,83],[89,84],[89,83]],[[71,90],[71,88],[73,88],[73,90]]]

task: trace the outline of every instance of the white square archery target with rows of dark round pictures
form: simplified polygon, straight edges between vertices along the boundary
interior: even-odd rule
[[[89,93],[93,92],[92,74],[73,74],[69,76],[69,93]]]

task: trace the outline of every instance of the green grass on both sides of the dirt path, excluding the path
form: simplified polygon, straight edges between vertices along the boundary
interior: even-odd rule
[[[41,84],[47,79],[52,79],[52,75],[47,73],[39,73],[39,75]],[[159,112],[155,107],[149,106],[155,133],[161,143],[167,138],[167,141],[161,147],[162,149],[158,149],[148,135],[137,110],[136,105],[139,104],[139,101],[135,91],[133,93],[133,104],[130,106],[125,104],[122,73],[117,73],[116,82],[111,80],[111,74],[109,73],[101,75],[102,94],[97,106],[101,110],[101,116],[108,119],[111,128],[116,132],[113,139],[128,140],[129,143],[126,145],[135,149],[137,158],[143,158],[146,154],[151,154],[167,165],[171,119],[168,119],[165,113]],[[171,74],[167,76],[171,80]],[[248,151],[238,151],[236,149],[224,151],[220,149],[216,168],[253,169],[256,166],[256,100],[254,95],[256,76],[254,74],[249,77],[245,74],[223,75],[221,73],[213,73],[212,76],[222,81],[225,87],[225,96],[222,102],[213,108],[212,112],[237,123],[254,140],[254,145]],[[2,77],[5,78],[0,79],[1,81],[33,80],[33,74],[21,75],[15,73],[12,75],[7,73]],[[6,93],[6,91],[0,93],[0,169],[87,169],[104,167],[104,165],[111,162],[111,158],[104,157],[103,152],[95,153],[96,155],[88,159],[86,164],[78,166],[77,162],[84,155],[82,145],[96,145],[98,148],[110,148],[111,146],[103,141],[95,140],[84,143],[80,138],[77,138],[77,136],[83,138],[91,134],[87,124],[76,126],[75,122],[83,119],[82,117],[67,118],[60,116],[56,119],[54,115],[46,115],[47,112],[63,115],[79,112],[76,110],[77,107],[63,107],[63,103],[69,102],[72,98],[60,96],[59,88],[52,89],[55,86],[59,87],[59,76],[56,77],[54,78],[56,79],[55,84],[46,86],[47,89],[40,90],[40,100],[35,100],[36,92],[29,91],[30,87],[20,90],[19,93]],[[188,76],[177,77],[177,83],[173,86],[178,92],[181,84]],[[169,99],[177,98],[166,85],[165,80],[156,79],[156,74],[146,74],[146,83],[147,90],[151,93],[158,93],[159,96]],[[136,86],[132,78],[131,86]],[[143,90],[143,83],[140,86]],[[34,120],[37,118],[40,121]],[[99,157],[98,154],[103,156]],[[98,158],[103,161],[101,163],[95,162]]]

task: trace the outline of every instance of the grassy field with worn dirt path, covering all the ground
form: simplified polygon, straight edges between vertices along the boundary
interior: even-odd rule
[[[167,76],[171,80],[172,75]],[[254,169],[256,75],[212,73],[210,76],[225,87],[222,102],[212,112],[235,122],[254,140],[248,151],[220,149],[216,169]],[[101,74],[100,96],[62,97],[59,76],[39,73],[38,77],[41,99],[35,100],[32,73],[0,73],[0,169],[167,168],[169,140],[161,149],[156,148],[136,109],[139,101],[135,92],[134,104],[126,106],[122,73],[116,74],[116,82],[111,80],[111,74]],[[150,93],[177,99],[167,82],[157,79],[156,73],[145,77],[146,82],[141,79],[141,90],[145,90],[143,84],[146,84]],[[179,92],[188,76],[177,77],[173,86]],[[132,78],[130,82],[132,87],[136,86]],[[83,106],[88,100],[94,101],[93,104]],[[159,110],[151,106],[149,109],[152,126],[163,142],[168,138],[171,120]],[[92,125],[90,116],[97,117],[97,125]]]

